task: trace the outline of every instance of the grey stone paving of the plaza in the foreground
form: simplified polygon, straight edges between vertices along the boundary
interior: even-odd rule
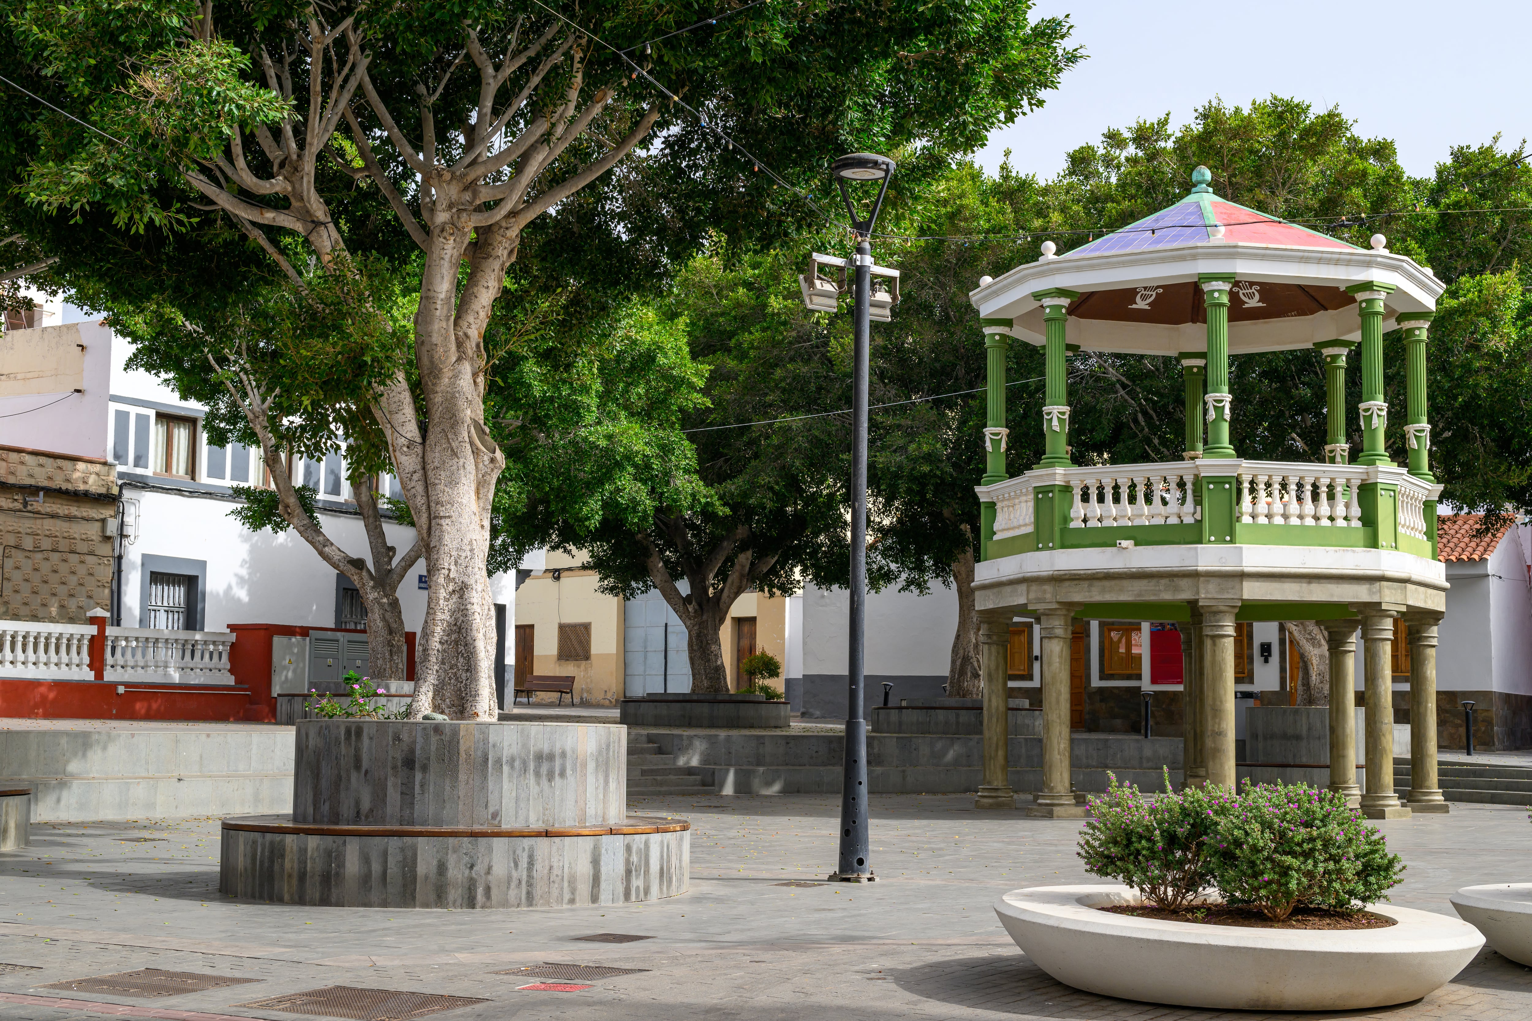
[[[879,882],[797,886],[833,866],[835,796],[631,807],[691,819],[689,892],[536,911],[291,908],[219,895],[218,819],[34,825],[29,848],[0,856],[0,1018],[291,1021],[326,1016],[296,993],[337,986],[470,1001],[430,1015],[452,1021],[1224,1016],[1082,993],[1016,949],[990,908],[997,894],[1100,882],[1074,857],[1077,820],[976,811],[971,794],[873,796]],[[1408,863],[1397,905],[1451,914],[1454,889],[1527,874],[1524,808],[1452,805],[1379,825]],[[601,934],[648,938],[581,938]],[[633,970],[568,977],[547,964]],[[80,981],[138,969],[230,984],[135,997],[112,992],[123,980]],[[555,989],[522,989],[538,984]],[[328,1016],[426,1016],[414,1009]],[[1347,1016],[1374,1013],[1527,1018],[1532,970],[1486,948],[1422,1001]]]

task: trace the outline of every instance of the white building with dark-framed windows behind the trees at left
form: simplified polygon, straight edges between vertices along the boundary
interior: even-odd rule
[[[132,349],[126,341],[74,306],[37,300],[41,308],[31,317],[37,329],[8,334],[8,340],[28,358],[41,358],[37,373],[55,373],[61,383],[57,392],[0,393],[0,445],[104,459],[116,467],[119,537],[112,605],[104,608],[113,626],[365,626],[355,586],[297,533],[250,531],[230,517],[237,505],[230,487],[262,484],[259,449],[210,445],[202,430],[205,409],[182,401],[161,380],[127,369]],[[366,556],[343,455],[337,450],[323,461],[300,461],[294,481],[319,491],[325,533]],[[398,496],[389,476],[380,488]],[[411,527],[388,522],[385,530],[400,551],[415,542]],[[418,631],[424,617],[429,574],[420,560],[398,589],[409,631]],[[499,681],[510,675],[515,655],[515,572],[492,577],[490,588],[501,637]]]

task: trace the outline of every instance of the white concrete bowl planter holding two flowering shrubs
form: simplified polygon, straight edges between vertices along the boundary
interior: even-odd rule
[[[1485,944],[1474,926],[1391,905],[1386,929],[1244,929],[1097,911],[1128,886],[1034,886],[994,903],[1016,946],[1075,989],[1219,1010],[1357,1010],[1437,989]]]

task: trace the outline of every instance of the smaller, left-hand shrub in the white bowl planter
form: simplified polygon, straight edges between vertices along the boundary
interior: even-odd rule
[[[1132,886],[1144,902],[1177,911],[1196,900],[1210,883],[1210,836],[1219,802],[1218,788],[1170,790],[1147,798],[1108,773],[1105,794],[1091,798],[1095,816],[1080,831],[1077,854],[1088,873]]]

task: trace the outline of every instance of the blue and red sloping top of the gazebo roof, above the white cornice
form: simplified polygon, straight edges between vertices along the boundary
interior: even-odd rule
[[[1075,248],[1066,257],[1196,245],[1215,237],[1223,237],[1226,242],[1246,242],[1252,245],[1362,251],[1356,245],[1348,245],[1328,234],[1311,231],[1298,223],[1287,223],[1259,210],[1221,199],[1207,187],[1212,178],[1207,167],[1198,167],[1192,173],[1192,191],[1184,199],[1152,216],[1146,216],[1137,223],[1129,223],[1121,230]],[[1219,227],[1224,230],[1218,231]]]

